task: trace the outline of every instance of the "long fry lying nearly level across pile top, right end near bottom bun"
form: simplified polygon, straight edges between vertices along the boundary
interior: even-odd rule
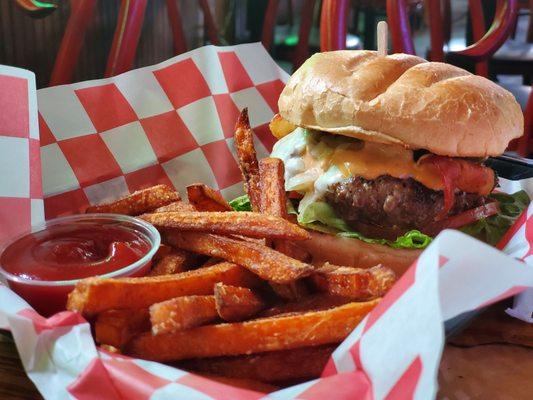
[[[167,212],[144,214],[141,218],[159,228],[176,228],[180,231],[291,240],[309,238],[309,233],[298,225],[278,217],[252,212]]]

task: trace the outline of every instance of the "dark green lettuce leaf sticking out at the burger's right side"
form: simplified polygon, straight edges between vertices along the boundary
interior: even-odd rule
[[[493,193],[489,197],[500,203],[500,213],[488,218],[480,219],[460,230],[492,246],[498,244],[505,232],[514,224],[516,219],[527,208],[529,196],[523,190],[512,195]]]

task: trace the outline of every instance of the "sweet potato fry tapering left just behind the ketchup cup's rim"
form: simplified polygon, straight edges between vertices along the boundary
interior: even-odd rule
[[[157,185],[139,190],[112,203],[88,207],[87,212],[139,215],[179,200],[178,192],[166,185]]]

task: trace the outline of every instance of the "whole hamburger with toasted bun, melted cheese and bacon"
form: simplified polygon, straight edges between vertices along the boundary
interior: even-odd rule
[[[402,269],[443,229],[501,214],[484,161],[523,134],[523,115],[488,79],[407,54],[325,52],[278,106],[271,156],[317,258]]]

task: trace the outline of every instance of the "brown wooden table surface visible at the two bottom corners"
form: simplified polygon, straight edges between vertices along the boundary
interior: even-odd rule
[[[499,303],[450,338],[439,370],[439,399],[529,400],[533,394],[533,325]],[[0,399],[41,399],[9,334],[0,332]]]

